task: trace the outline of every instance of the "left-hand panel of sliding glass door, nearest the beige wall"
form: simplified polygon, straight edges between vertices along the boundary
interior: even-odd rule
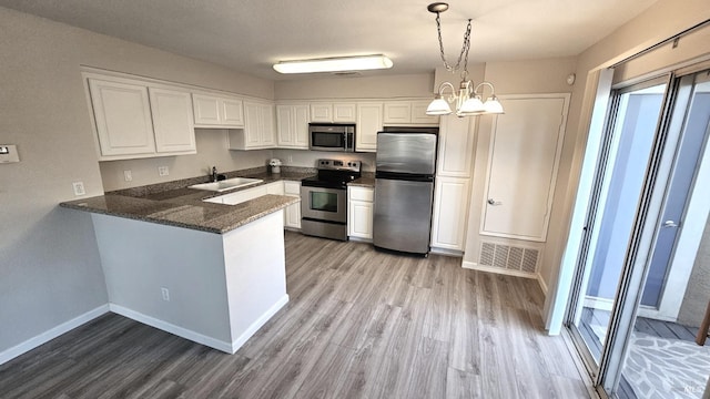
[[[598,369],[656,141],[666,80],[616,91],[589,203],[575,314],[569,324]]]

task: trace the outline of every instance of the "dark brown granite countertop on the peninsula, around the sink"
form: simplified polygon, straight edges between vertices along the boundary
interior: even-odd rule
[[[315,171],[290,168],[284,170],[281,174],[272,175],[263,168],[257,168],[225,174],[227,178],[237,176],[262,178],[264,182],[258,185],[263,185],[283,180],[301,181],[313,176]],[[206,176],[203,176],[120,190],[108,192],[101,196],[64,202],[60,206],[224,234],[300,201],[293,196],[268,194],[237,205],[207,203],[203,200],[253,188],[257,185],[222,193],[187,188],[189,185],[204,183],[206,180]]]

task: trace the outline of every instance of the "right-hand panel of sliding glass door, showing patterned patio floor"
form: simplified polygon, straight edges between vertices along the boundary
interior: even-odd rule
[[[710,74],[679,79],[674,103],[650,193],[649,213],[658,216],[647,219],[640,238],[650,245],[632,265],[643,288],[619,310],[632,327],[605,383],[623,399],[700,398],[710,375],[710,344],[696,344],[710,300]]]

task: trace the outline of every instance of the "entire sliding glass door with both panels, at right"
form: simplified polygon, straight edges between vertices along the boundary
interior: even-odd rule
[[[710,300],[710,72],[696,71],[612,92],[566,321],[610,397],[700,398],[710,374],[693,342]]]

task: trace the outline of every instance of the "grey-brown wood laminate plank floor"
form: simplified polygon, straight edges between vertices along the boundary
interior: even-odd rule
[[[535,280],[286,233],[291,301],[235,355],[108,314],[0,366],[0,398],[589,398]]]

